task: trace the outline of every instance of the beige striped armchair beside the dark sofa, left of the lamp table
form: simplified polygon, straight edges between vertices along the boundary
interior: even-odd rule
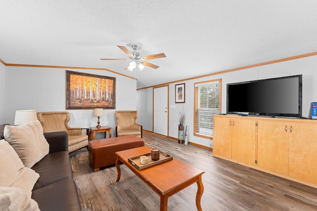
[[[69,127],[69,112],[38,112],[44,132],[66,131],[68,133],[68,152],[88,146],[89,128]],[[83,130],[86,134],[82,134]]]

